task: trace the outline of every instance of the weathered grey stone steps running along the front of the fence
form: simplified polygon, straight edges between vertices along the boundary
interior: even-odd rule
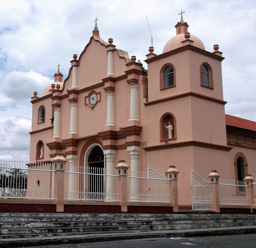
[[[256,215],[0,213],[0,241],[234,226],[256,226]]]

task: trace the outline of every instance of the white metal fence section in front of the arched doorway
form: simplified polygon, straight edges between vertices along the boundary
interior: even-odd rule
[[[67,182],[67,183],[66,183]],[[115,169],[69,166],[65,171],[66,200],[118,201],[119,176]]]

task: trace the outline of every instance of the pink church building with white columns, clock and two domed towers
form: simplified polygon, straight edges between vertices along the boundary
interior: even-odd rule
[[[218,45],[206,51],[183,20],[175,28],[162,54],[149,48],[145,70],[95,26],[64,82],[58,69],[42,97],[34,92],[30,162],[62,153],[74,172],[114,169],[120,160],[131,173],[176,166],[180,208],[191,207],[191,171],[256,178],[256,124],[225,115]]]

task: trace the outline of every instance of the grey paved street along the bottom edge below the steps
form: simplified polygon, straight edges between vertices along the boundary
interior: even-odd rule
[[[256,234],[228,235],[228,236],[207,236],[193,238],[150,238],[139,240],[106,241],[84,244],[62,244],[56,246],[31,246],[34,248],[256,248]]]

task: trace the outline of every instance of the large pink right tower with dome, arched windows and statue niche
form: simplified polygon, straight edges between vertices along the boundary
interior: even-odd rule
[[[186,164],[190,170],[205,164],[208,173],[210,166],[216,167],[216,154],[223,164],[228,164],[221,69],[224,58],[218,45],[214,45],[213,52],[206,51],[183,20],[175,28],[176,36],[168,40],[162,54],[154,54],[150,47],[146,55],[145,150],[164,149],[166,154],[161,156],[170,164]],[[149,160],[154,156],[148,156]]]

